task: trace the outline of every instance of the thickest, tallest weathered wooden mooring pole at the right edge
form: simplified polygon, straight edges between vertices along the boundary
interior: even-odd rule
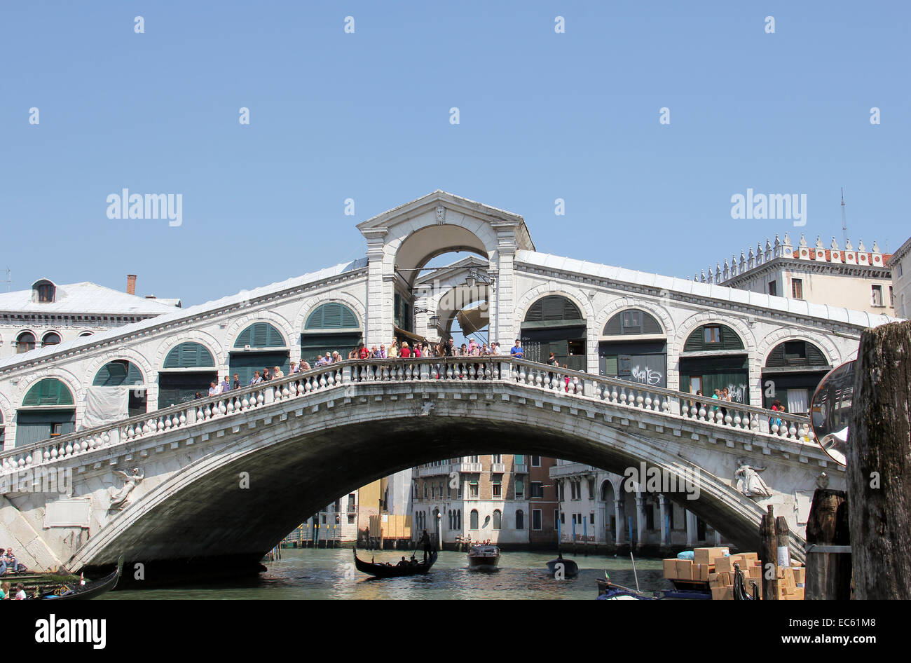
[[[911,321],[865,331],[846,484],[855,598],[911,598]]]

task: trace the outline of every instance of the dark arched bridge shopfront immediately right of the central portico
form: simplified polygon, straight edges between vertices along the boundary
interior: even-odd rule
[[[545,363],[550,352],[562,366],[587,371],[586,321],[578,306],[568,298],[549,295],[531,305],[522,322],[519,338],[522,356]]]

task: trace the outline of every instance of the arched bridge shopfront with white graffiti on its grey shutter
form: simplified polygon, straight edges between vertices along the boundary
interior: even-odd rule
[[[598,344],[599,374],[652,387],[668,385],[668,341],[659,321],[639,309],[610,318]]]

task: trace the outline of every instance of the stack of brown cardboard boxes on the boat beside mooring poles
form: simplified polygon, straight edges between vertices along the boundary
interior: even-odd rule
[[[747,593],[752,595],[753,583],[763,597],[763,567],[756,553],[730,555],[728,548],[696,548],[692,559],[665,559],[664,577],[668,580],[684,580],[705,583],[711,589],[714,600],[733,600],[734,565],[741,567]],[[778,566],[779,600],[803,600],[803,566]],[[703,585],[705,586],[705,585]]]

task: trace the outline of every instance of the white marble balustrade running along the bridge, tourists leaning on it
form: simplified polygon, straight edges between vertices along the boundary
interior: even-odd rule
[[[279,380],[232,390],[217,396],[181,403],[106,426],[77,431],[0,453],[0,475],[36,465],[54,463],[97,449],[127,444],[191,428],[214,419],[234,418],[272,403],[306,399],[353,383],[381,382],[512,382],[570,400],[592,400],[621,411],[649,411],[669,419],[691,419],[718,427],[771,435],[793,442],[810,442],[806,417],[779,413],[741,403],[694,400],[691,394],[585,372],[554,369],[511,357],[427,357],[346,361],[292,373]]]

